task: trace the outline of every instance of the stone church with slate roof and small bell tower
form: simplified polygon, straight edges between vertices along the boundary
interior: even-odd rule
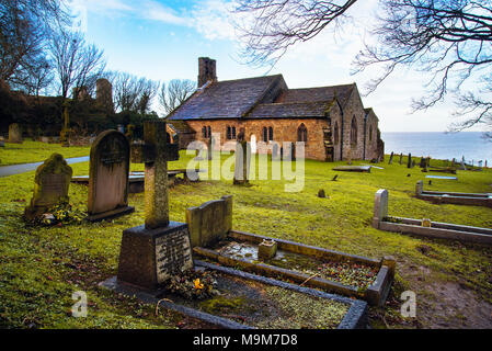
[[[244,128],[258,152],[272,152],[275,141],[305,141],[308,159],[384,156],[378,117],[364,107],[355,83],[289,89],[282,75],[218,81],[216,61],[208,57],[198,58],[198,89],[167,121],[182,147],[207,143],[211,133],[220,133],[224,145]]]

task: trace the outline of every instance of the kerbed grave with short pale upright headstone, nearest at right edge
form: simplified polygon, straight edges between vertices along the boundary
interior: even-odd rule
[[[376,229],[436,239],[492,245],[492,229],[433,222],[428,218],[425,218],[425,223],[423,223],[422,219],[389,216],[387,208],[388,191],[380,189],[376,192],[374,203],[373,227]],[[424,224],[428,225],[428,222],[431,222],[431,227],[424,226]]]

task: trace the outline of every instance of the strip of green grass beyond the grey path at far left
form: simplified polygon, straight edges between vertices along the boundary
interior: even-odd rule
[[[89,146],[62,147],[60,144],[47,144],[24,139],[22,144],[5,143],[0,147],[0,167],[19,163],[42,162],[53,152],[61,154],[65,158],[89,156]]]

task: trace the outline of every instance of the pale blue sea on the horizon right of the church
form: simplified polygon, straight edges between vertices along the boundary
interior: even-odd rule
[[[381,132],[385,154],[403,152],[416,157],[461,160],[474,165],[488,160],[492,165],[492,139],[484,139],[481,132]]]

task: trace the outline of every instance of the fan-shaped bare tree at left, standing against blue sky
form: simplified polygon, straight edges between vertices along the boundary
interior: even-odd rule
[[[60,29],[52,37],[50,55],[64,99],[71,88],[94,86],[105,68],[103,52],[94,45],[88,45],[80,32]]]

